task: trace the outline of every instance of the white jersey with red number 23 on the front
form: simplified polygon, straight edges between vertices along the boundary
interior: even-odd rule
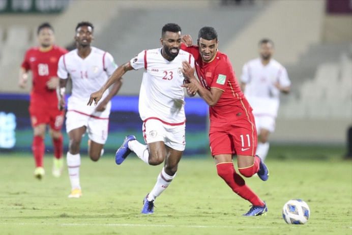
[[[147,119],[159,119],[165,124],[183,124],[185,116],[185,95],[182,84],[182,62],[194,67],[193,56],[179,51],[172,61],[161,54],[161,48],[144,50],[130,61],[134,69],[144,68],[139,92],[139,115]]]

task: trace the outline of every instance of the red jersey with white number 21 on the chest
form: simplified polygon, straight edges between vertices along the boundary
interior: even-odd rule
[[[49,51],[40,51],[39,47],[32,47],[25,53],[22,68],[32,70],[31,103],[45,102],[48,106],[57,106],[56,90],[49,89],[46,85],[51,77],[57,77],[57,64],[61,55],[67,50],[53,46]]]

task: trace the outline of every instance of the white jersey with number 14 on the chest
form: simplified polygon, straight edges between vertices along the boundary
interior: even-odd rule
[[[72,94],[68,100],[68,110],[89,115],[95,112],[94,105],[87,105],[91,94],[103,86],[108,77],[118,68],[111,54],[96,47],[91,48],[91,53],[84,59],[78,55],[77,49],[62,55],[58,61],[57,69],[58,77],[67,79],[70,74],[72,79]],[[108,93],[109,91],[106,91],[100,101]],[[94,115],[108,117],[110,107],[111,103],[109,102],[105,111],[95,112]]]

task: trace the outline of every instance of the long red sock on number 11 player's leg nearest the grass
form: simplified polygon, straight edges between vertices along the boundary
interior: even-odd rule
[[[218,175],[226,184],[242,198],[250,201],[253,205],[264,205],[263,201],[246,185],[241,175],[237,174],[232,162],[224,162],[216,165]]]

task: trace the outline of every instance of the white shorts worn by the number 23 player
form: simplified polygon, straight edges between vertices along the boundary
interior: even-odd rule
[[[142,131],[144,141],[147,144],[163,141],[171,149],[184,151],[186,146],[185,128],[185,124],[171,126],[160,120],[149,119],[143,122]]]

